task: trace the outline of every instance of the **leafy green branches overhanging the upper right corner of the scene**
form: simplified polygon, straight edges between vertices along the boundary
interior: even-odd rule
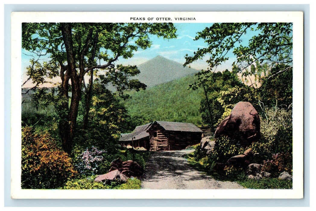
[[[208,78],[210,74],[222,63],[228,61],[228,53],[236,56],[232,63],[233,69],[246,75],[261,76],[265,64],[268,70],[274,67],[278,69],[276,74],[292,69],[293,34],[292,23],[214,23],[198,32],[195,40],[204,39],[207,47],[197,49],[193,56],[185,56],[184,65],[209,56],[209,67],[201,70],[199,78]],[[254,36],[248,41],[248,45],[240,44],[246,34],[254,32]],[[257,63],[262,65],[256,65]],[[280,66],[282,64],[282,66]],[[251,68],[252,67],[252,68]]]

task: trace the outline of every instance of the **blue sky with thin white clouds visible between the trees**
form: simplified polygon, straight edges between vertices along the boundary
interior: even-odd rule
[[[197,51],[197,48],[203,48],[207,46],[207,44],[204,43],[204,40],[193,39],[197,35],[197,32],[202,31],[205,27],[210,27],[212,23],[174,23],[174,25],[177,28],[176,39],[163,39],[157,38],[155,35],[150,35],[150,39],[152,41],[150,48],[136,51],[135,55],[129,59],[119,58],[119,60],[116,61],[116,64],[139,65],[158,55],[183,64],[185,63],[185,54],[191,56],[193,55],[194,51]],[[247,33],[246,40],[249,40],[249,38],[252,36],[253,33]],[[243,41],[245,42],[245,40]],[[22,81],[25,81],[27,78],[26,67],[30,65],[29,59],[32,58],[31,56],[27,55],[30,55],[30,53],[22,49]],[[229,57],[228,62],[222,64],[222,66],[218,67],[217,70],[221,71],[225,69],[231,69],[231,63],[236,59],[236,57],[232,54],[232,52],[228,53],[227,56]],[[194,69],[206,69],[206,60],[207,57],[204,57],[204,59],[192,63],[191,67]],[[31,83],[27,83],[25,85],[25,87],[30,86],[32,86]]]

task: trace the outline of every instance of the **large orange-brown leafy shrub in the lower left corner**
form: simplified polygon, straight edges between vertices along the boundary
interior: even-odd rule
[[[54,189],[77,172],[67,153],[45,132],[34,134],[32,127],[22,128],[21,188]]]

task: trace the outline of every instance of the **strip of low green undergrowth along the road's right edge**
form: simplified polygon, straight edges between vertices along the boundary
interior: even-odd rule
[[[263,178],[260,180],[248,179],[245,172],[232,172],[226,174],[225,172],[215,171],[213,169],[215,162],[210,160],[207,156],[199,160],[196,159],[195,152],[185,154],[184,157],[188,163],[197,170],[205,172],[207,175],[220,181],[237,182],[244,188],[248,189],[292,189],[292,181],[282,180],[278,178]]]

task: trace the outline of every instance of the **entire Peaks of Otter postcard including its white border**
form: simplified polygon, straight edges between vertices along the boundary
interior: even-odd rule
[[[13,199],[303,197],[302,12],[13,12]]]

